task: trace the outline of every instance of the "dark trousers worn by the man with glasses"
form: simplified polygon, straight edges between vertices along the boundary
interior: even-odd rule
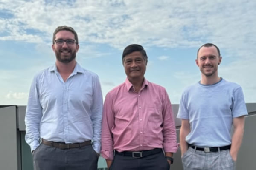
[[[98,155],[92,145],[59,149],[40,144],[33,154],[34,170],[97,170]]]

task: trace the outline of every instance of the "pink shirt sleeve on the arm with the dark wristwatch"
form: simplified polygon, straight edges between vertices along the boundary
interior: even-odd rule
[[[178,150],[177,135],[175,128],[172,105],[167,92],[163,92],[163,150],[165,152],[176,153]]]

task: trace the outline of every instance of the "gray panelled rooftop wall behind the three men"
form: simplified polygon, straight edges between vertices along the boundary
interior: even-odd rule
[[[236,162],[236,170],[256,170],[256,103],[247,103],[249,115],[245,118],[244,138]],[[179,142],[180,119],[177,119],[179,105],[172,105]],[[24,141],[26,106],[0,106],[0,170],[32,170],[32,155]],[[21,155],[21,156],[20,156]],[[22,157],[22,159],[20,159]],[[183,170],[180,150],[174,154],[171,169]],[[99,161],[105,167],[105,161]],[[21,168],[22,167],[22,168]]]

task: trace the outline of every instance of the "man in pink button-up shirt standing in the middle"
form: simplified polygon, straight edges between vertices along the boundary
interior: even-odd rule
[[[127,79],[105,97],[101,153],[110,170],[169,170],[177,151],[171,102],[163,87],[144,78],[147,62],[141,45],[128,45]]]

